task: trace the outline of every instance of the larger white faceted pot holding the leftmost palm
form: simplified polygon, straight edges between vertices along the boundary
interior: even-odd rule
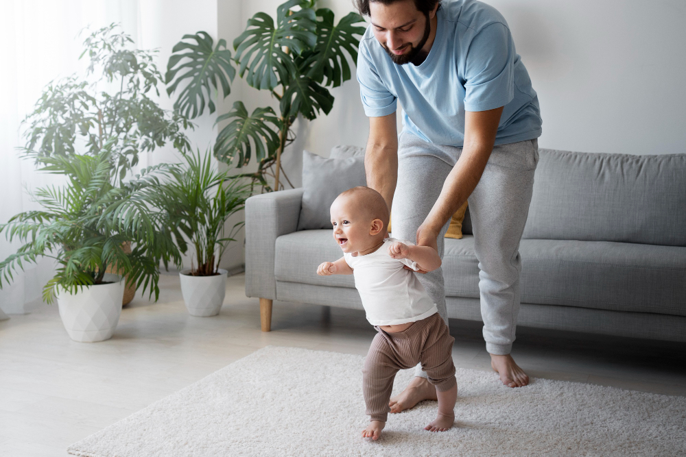
[[[117,328],[126,278],[105,273],[103,280],[113,282],[84,286],[73,295],[57,288],[60,317],[73,341],[104,341],[112,338]]]

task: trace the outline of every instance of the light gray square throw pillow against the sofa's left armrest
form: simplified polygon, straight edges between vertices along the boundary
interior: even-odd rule
[[[366,186],[364,156],[327,159],[303,151],[303,203],[298,230],[331,228],[331,203],[344,190]]]

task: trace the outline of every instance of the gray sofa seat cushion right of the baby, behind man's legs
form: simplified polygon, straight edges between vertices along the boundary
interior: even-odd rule
[[[521,240],[521,301],[686,316],[686,247]],[[479,297],[474,238],[445,240],[446,295]]]

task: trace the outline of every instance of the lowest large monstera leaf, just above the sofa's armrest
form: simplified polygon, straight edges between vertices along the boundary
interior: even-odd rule
[[[250,162],[252,145],[255,146],[257,160],[269,155],[269,151],[279,148],[279,130],[281,120],[276,117],[272,108],[257,108],[248,115],[241,101],[233,103],[233,109],[217,117],[217,122],[233,119],[217,135],[214,153],[222,162],[235,162],[237,168]],[[271,124],[273,127],[270,127]],[[251,145],[252,143],[252,145]],[[238,160],[235,156],[238,154]]]

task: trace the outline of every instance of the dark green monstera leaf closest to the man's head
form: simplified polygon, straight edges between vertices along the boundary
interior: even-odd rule
[[[355,35],[364,35],[366,28],[353,24],[364,22],[364,19],[351,12],[338,25],[333,25],[333,11],[329,8],[318,9],[317,16],[321,18],[317,22],[317,45],[307,60],[306,65],[310,67],[307,75],[319,83],[326,78],[327,86],[338,87],[351,78],[346,53],[357,62],[359,38]]]

